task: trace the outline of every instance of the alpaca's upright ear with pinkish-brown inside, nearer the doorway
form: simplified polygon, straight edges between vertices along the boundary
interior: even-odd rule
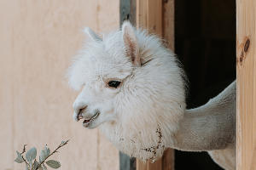
[[[134,32],[133,26],[128,21],[125,21],[122,26],[123,39],[125,43],[125,53],[127,57],[131,58],[131,63],[135,66],[141,65],[141,59],[139,56],[139,48],[137,44],[137,38]]]

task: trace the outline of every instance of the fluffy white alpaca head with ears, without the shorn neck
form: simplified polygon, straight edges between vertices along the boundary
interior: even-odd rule
[[[160,39],[125,22],[120,31],[90,37],[68,71],[80,89],[73,118],[99,127],[121,151],[143,161],[172,143],[185,109],[183,71]]]

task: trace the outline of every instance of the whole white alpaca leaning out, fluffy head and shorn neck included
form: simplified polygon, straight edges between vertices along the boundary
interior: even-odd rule
[[[184,72],[158,37],[125,22],[90,37],[69,69],[81,92],[73,118],[99,127],[121,151],[143,161],[166,148],[207,150],[221,167],[236,168],[236,82],[206,105],[186,110]]]

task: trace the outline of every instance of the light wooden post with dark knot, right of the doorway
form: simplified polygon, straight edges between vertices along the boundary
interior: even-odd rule
[[[236,0],[236,169],[256,169],[256,1]]]

